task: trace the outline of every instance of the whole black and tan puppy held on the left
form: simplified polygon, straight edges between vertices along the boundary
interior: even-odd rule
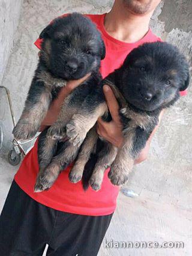
[[[40,174],[35,186],[36,191],[47,188],[44,169],[49,165],[56,149],[62,151],[62,142],[50,138],[55,127],[62,127],[79,111],[80,105],[101,81],[99,73],[101,59],[105,56],[105,46],[100,32],[94,23],[82,14],[73,13],[66,17],[55,19],[40,34],[43,38],[40,59],[22,115],[13,129],[14,138],[18,140],[31,139],[40,129],[49,109],[67,81],[83,78],[88,73],[91,76],[64,100],[61,115],[52,129],[46,129],[39,136],[38,162]],[[59,130],[62,132],[62,129]],[[48,135],[46,135],[48,133]],[[60,137],[59,137],[60,138]],[[60,151],[59,151],[60,148]],[[69,161],[75,152],[68,148]],[[49,183],[49,182],[48,182]]]

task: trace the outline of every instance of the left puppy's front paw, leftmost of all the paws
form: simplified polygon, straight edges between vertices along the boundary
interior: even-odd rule
[[[18,122],[13,129],[13,136],[18,141],[25,141],[34,138],[38,129],[34,129],[34,126],[25,121]]]

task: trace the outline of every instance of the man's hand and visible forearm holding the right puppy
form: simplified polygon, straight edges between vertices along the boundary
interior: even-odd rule
[[[103,138],[111,142],[116,147],[121,147],[124,138],[122,136],[122,124],[119,117],[119,105],[115,98],[115,95],[113,94],[112,89],[109,86],[104,85],[103,91],[106,97],[110,114],[112,116],[112,121],[110,121],[110,123],[107,123],[103,121],[101,118],[99,118],[97,122],[98,123],[97,132],[98,132],[98,135],[101,135]],[[139,157],[138,159],[135,160],[134,164],[138,164],[146,160],[152,137],[154,136],[154,133],[156,132],[160,124],[162,115],[163,115],[163,111],[160,113],[158,125],[155,127],[155,129],[151,133],[151,136],[146,142],[145,148],[143,148],[143,150],[140,152]]]

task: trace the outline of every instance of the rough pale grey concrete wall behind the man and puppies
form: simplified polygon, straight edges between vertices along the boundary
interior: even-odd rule
[[[17,1],[15,1],[17,2]],[[14,47],[8,60],[3,84],[11,91],[16,119],[19,118],[32,75],[37,65],[38,50],[33,42],[41,29],[56,16],[70,11],[104,13],[113,1],[24,0]],[[161,2],[151,20],[152,30],[192,55],[191,1]],[[17,168],[6,163],[5,153],[11,148],[12,125],[5,98],[0,103],[0,120],[4,128],[3,157],[0,176],[5,198],[11,177]],[[170,109],[151,144],[146,162],[136,166],[126,188],[138,197],[120,194],[118,209],[107,232],[107,240],[116,241],[183,241],[184,249],[104,249],[100,255],[190,255],[192,249],[192,117],[191,89],[187,97]],[[4,118],[1,118],[3,113]],[[6,170],[6,171],[5,171]],[[6,186],[5,186],[6,185]],[[1,190],[0,190],[1,192]]]

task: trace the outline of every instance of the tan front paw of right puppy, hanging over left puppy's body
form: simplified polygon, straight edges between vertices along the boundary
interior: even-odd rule
[[[66,133],[69,141],[73,143],[74,146],[79,147],[86,137],[86,131],[83,127],[76,124],[75,120],[71,120],[66,126]]]

